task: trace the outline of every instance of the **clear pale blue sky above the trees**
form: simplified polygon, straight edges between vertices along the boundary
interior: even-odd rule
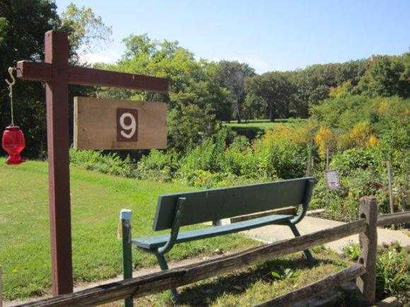
[[[122,39],[147,33],[177,40],[197,59],[236,60],[257,73],[403,54],[410,48],[410,0],[56,0],[89,6],[112,26],[113,42],[83,54],[115,62]]]

